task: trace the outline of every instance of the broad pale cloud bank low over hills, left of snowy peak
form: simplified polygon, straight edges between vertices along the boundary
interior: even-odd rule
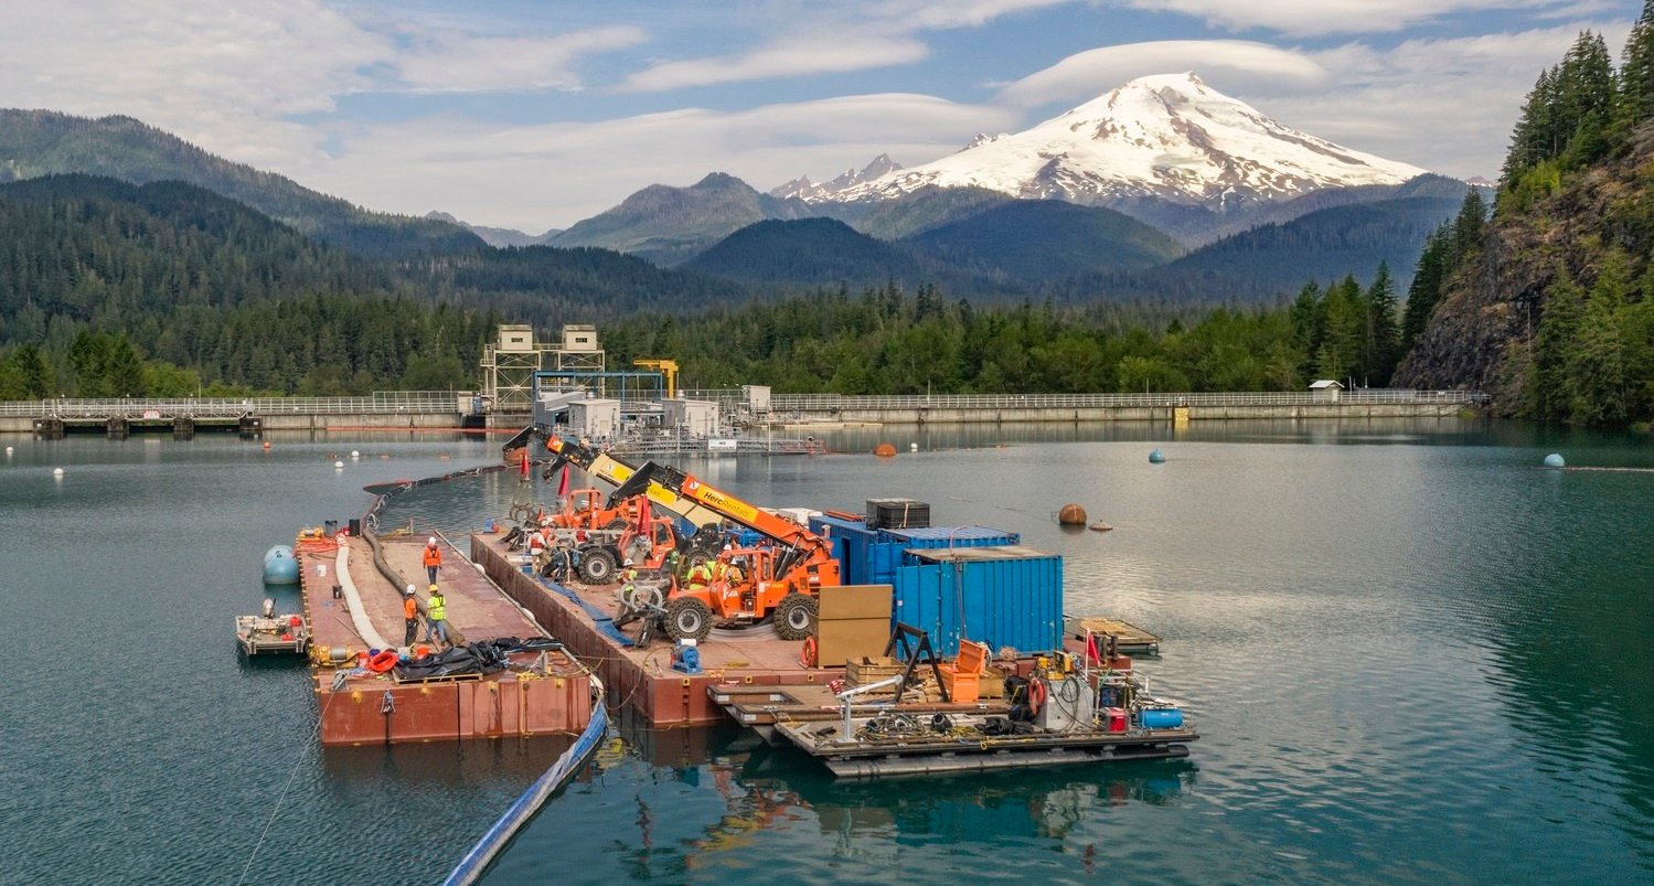
[[[974,132],[1017,122],[1001,107],[916,94],[528,127],[420,119],[344,134],[347,150],[313,180],[389,212],[442,208],[466,222],[538,231],[595,215],[650,183],[690,185],[716,170],[766,190],[880,152],[930,160]]]

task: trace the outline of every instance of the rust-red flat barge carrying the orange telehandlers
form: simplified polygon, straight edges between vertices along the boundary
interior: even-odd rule
[[[528,559],[508,550],[503,534],[473,534],[471,559],[597,671],[610,699],[622,707],[635,707],[650,726],[721,722],[723,711],[708,694],[713,686],[809,686],[844,676],[844,668],[804,666],[799,661],[801,641],[779,640],[762,626],[713,631],[698,646],[701,673],[678,673],[672,669],[670,640],[633,648],[629,640],[619,638],[635,636],[638,628],[632,625],[625,633],[614,628],[614,585],[559,585],[524,572]]]

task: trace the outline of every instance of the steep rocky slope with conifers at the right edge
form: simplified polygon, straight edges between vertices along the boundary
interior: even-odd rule
[[[1404,383],[1479,387],[1510,415],[1654,418],[1654,0],[1614,71],[1581,33],[1512,132],[1492,220],[1421,261]],[[1426,312],[1427,311],[1427,312]]]

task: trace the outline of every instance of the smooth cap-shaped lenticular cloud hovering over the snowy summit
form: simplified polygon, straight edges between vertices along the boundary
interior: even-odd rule
[[[1214,84],[1231,79],[1303,88],[1328,79],[1327,68],[1293,50],[1240,40],[1159,40],[1075,53],[1006,84],[1001,98],[1022,106],[1052,101],[1077,104],[1128,79],[1176,71],[1196,71]]]

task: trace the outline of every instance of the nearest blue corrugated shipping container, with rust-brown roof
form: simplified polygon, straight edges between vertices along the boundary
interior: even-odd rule
[[[896,569],[892,617],[930,633],[938,653],[956,655],[959,640],[1021,653],[1062,643],[1062,557],[1019,545],[911,557]]]

